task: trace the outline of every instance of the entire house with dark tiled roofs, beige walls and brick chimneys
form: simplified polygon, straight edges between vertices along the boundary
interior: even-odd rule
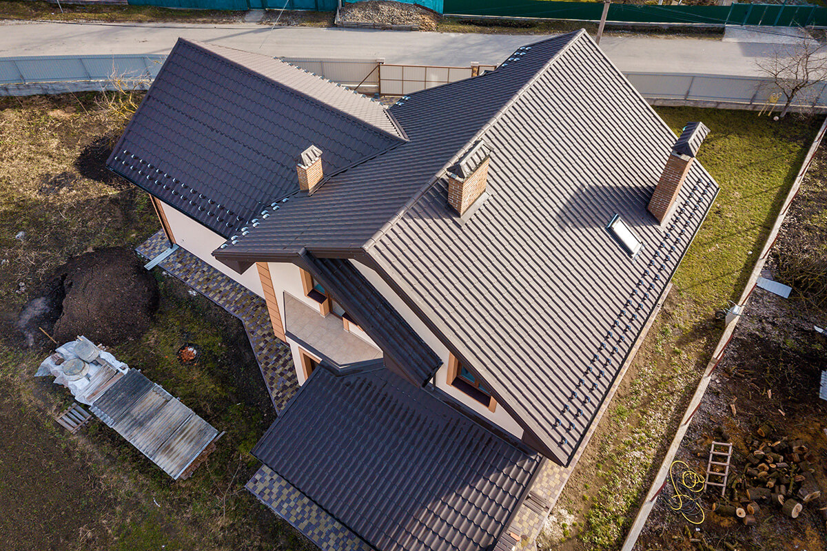
[[[324,549],[509,549],[715,199],[707,131],[585,31],[390,108],[179,40],[108,165],[292,350],[251,491]]]

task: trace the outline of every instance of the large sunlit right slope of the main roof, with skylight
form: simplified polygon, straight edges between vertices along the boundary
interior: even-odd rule
[[[718,188],[694,164],[658,225],[646,207],[675,135],[585,33],[479,137],[490,197],[474,216],[457,224],[437,181],[367,252],[568,463]],[[633,259],[605,229],[616,214],[643,241]]]

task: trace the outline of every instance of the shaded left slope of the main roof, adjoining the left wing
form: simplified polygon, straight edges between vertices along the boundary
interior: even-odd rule
[[[574,35],[533,45],[517,63],[485,76],[412,93],[390,108],[409,142],[337,174],[312,197],[290,197],[280,210],[218,258],[356,250],[456,163],[458,153]],[[323,216],[320,216],[323,213]]]

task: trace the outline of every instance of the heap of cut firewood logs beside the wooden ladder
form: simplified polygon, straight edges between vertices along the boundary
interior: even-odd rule
[[[730,474],[724,498],[712,510],[755,525],[758,511],[780,511],[798,518],[804,506],[812,507],[827,521],[827,506],[820,501],[815,479],[815,455],[801,439],[777,439],[769,425],[761,425],[758,438],[749,444],[743,473]]]

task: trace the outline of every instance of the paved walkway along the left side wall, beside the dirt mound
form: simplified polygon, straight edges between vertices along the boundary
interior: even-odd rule
[[[136,251],[146,259],[154,259],[169,246],[164,231],[159,230]],[[289,346],[273,334],[264,299],[186,249],[179,248],[158,265],[241,320],[275,411],[284,410],[299,390],[299,380]]]

